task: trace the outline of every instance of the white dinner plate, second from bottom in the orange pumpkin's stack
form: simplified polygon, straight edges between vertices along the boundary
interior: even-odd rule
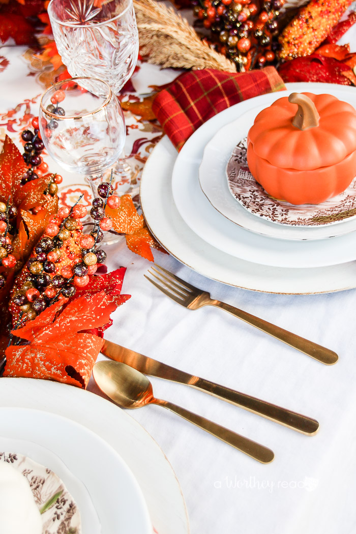
[[[253,107],[268,106],[292,91],[303,91],[306,84],[289,84],[287,91],[251,98],[228,108],[204,123],[180,151],[172,174],[173,199],[188,226],[213,247],[242,260],[270,266],[315,268],[346,263],[356,258],[356,232],[331,240],[290,241],[252,233],[232,223],[214,209],[199,185],[199,166],[205,145],[223,125],[237,119]],[[348,97],[347,89],[328,84],[308,84],[310,92],[326,92]],[[356,94],[350,89],[356,105]],[[349,99],[349,98],[347,98]],[[226,111],[226,110],[225,110]]]

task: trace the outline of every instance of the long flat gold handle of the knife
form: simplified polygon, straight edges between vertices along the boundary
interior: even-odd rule
[[[260,400],[256,397],[240,393],[234,389],[219,386],[219,384],[216,384],[215,382],[199,378],[191,385],[194,388],[210,393],[210,395],[227,400],[227,402],[230,402],[231,404],[241,406],[252,413],[263,415],[266,419],[281,423],[293,430],[298,430],[298,432],[301,432],[302,434],[312,436],[317,433],[319,429],[319,423],[315,419],[300,413],[292,412],[281,406],[268,403],[265,400]]]

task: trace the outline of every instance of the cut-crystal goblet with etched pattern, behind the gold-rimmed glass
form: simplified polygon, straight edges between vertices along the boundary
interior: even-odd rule
[[[138,57],[132,0],[51,0],[48,14],[69,74],[100,78],[117,94]]]

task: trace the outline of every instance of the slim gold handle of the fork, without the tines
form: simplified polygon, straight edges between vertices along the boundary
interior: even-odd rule
[[[317,343],[313,343],[313,341],[308,341],[307,339],[304,339],[304,337],[292,334],[291,332],[288,332],[288,330],[284,330],[279,326],[273,325],[272,323],[268,323],[264,319],[255,317],[247,311],[239,310],[238,308],[234,308],[234,306],[231,306],[230,304],[226,304],[225,302],[220,302],[216,300],[209,302],[209,304],[212,306],[217,306],[218,308],[222,308],[228,313],[231,313],[231,315],[242,319],[243,321],[245,321],[245,323],[249,323],[252,326],[256,326],[256,328],[259,328],[263,332],[266,332],[266,334],[270,334],[276,339],[283,341],[283,343],[287,343],[287,345],[290,345],[290,347],[294,347],[295,349],[300,350],[300,352],[304,352],[304,354],[311,356],[315,360],[318,360],[318,362],[321,362],[326,365],[332,365],[335,364],[338,360],[338,356],[333,350],[322,347]]]

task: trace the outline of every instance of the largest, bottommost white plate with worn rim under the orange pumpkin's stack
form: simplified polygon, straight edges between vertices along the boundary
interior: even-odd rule
[[[229,113],[230,109],[226,109],[220,115]],[[330,293],[356,287],[354,262],[283,269],[240,260],[209,245],[183,221],[173,201],[171,175],[176,158],[175,147],[164,137],[145,165],[140,197],[149,229],[181,263],[224,284],[266,293]]]

